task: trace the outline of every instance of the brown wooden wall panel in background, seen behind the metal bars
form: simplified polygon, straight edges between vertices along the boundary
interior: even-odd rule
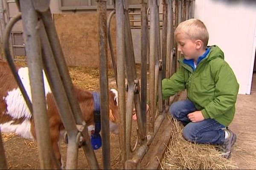
[[[99,67],[97,14],[53,14],[55,27],[67,65]],[[111,22],[111,37],[116,54],[115,18]],[[108,48],[108,65],[112,65]]]

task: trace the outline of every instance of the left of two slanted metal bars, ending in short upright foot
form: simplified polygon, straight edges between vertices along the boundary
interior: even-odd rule
[[[65,89],[61,82],[61,77],[58,72],[57,65],[53,58],[52,50],[47,38],[46,31],[41,25],[40,27],[41,44],[42,44],[42,55],[44,61],[44,71],[46,73],[52,94],[54,96],[58,111],[60,112],[61,120],[67,130],[68,135],[68,147],[67,147],[67,169],[77,168],[78,158],[78,144],[76,141],[76,135],[78,130],[76,128],[76,122],[72,115]]]

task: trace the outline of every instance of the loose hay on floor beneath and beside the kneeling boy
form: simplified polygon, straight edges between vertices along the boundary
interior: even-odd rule
[[[169,117],[169,119],[172,119]],[[171,120],[170,120],[171,121]],[[166,153],[160,163],[161,169],[234,169],[234,162],[225,159],[209,144],[195,144],[182,136],[183,125],[173,121],[172,135]]]

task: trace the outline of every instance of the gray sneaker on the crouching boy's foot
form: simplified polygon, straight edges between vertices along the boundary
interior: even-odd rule
[[[224,158],[229,159],[230,158],[230,154],[231,154],[231,147],[236,142],[236,134],[233,133],[228,128],[225,129],[225,130],[227,130],[227,133],[229,134],[229,136],[227,137],[227,139],[225,139],[225,142],[221,145],[221,151],[223,152],[221,155]]]

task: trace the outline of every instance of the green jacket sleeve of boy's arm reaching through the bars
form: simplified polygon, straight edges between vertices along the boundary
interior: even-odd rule
[[[173,96],[177,92],[183,91],[185,88],[184,68],[180,67],[172,77],[162,80],[163,99],[168,99],[169,96]]]

